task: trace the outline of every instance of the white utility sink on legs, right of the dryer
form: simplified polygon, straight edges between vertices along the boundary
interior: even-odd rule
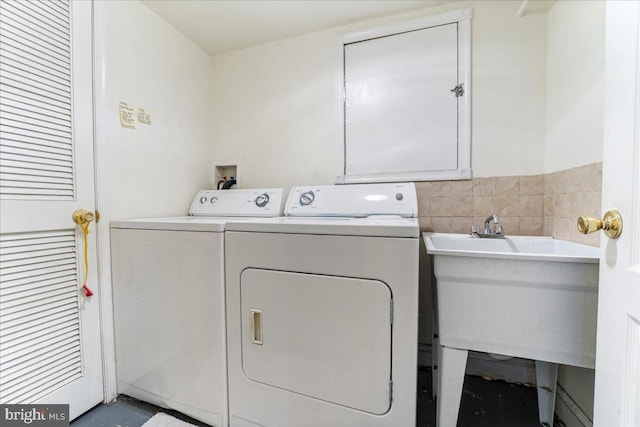
[[[469,350],[536,361],[542,425],[557,364],[595,366],[599,249],[550,237],[424,233],[434,289],[437,422],[455,427]]]

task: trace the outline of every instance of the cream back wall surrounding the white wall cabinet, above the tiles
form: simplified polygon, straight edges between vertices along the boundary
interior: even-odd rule
[[[336,37],[464,7],[473,8],[474,175],[542,173],[546,14],[516,18],[519,3],[504,1],[456,2],[214,56],[214,159],[238,161],[243,187],[333,183]]]

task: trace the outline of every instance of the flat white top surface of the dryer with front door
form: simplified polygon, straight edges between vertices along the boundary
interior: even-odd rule
[[[418,218],[297,218],[281,217],[231,220],[227,231],[258,233],[324,234],[338,236],[412,237],[420,236]]]

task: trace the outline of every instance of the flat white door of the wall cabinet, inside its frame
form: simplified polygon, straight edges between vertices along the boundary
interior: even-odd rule
[[[456,169],[457,24],[345,46],[347,175]]]

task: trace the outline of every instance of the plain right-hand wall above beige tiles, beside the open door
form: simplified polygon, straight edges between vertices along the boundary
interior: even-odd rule
[[[604,9],[604,1],[549,9],[545,172],[602,161]]]

